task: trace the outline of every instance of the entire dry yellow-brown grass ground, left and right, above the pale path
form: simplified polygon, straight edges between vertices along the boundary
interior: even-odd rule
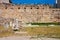
[[[4,28],[0,28],[0,30],[3,30]],[[20,31],[25,31],[28,34],[26,35],[44,35],[48,37],[59,37],[60,38],[60,26],[39,26],[39,27],[22,27],[19,29]],[[13,36],[13,35],[20,35],[21,34],[14,34],[11,28],[8,30],[3,30],[0,32],[0,37],[2,36]],[[25,34],[22,34],[25,35]],[[53,35],[53,36],[52,36]]]

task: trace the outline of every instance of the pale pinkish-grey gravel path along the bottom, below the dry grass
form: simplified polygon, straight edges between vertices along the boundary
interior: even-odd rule
[[[10,37],[3,37],[0,40],[60,40],[54,38],[38,38],[38,39],[30,39],[28,36],[10,36]]]

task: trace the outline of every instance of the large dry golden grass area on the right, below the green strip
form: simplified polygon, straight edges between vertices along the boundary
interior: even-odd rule
[[[40,35],[46,37],[60,38],[60,26],[39,26],[39,27],[25,27],[29,35]]]

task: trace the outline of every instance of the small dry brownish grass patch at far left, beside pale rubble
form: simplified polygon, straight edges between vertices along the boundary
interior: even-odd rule
[[[6,37],[6,36],[11,36],[13,35],[13,31],[11,28],[8,28],[7,30],[4,29],[3,26],[0,26],[0,37]]]

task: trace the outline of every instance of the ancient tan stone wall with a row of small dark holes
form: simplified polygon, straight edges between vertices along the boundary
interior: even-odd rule
[[[60,22],[60,9],[49,5],[0,4],[0,17],[22,22]]]

